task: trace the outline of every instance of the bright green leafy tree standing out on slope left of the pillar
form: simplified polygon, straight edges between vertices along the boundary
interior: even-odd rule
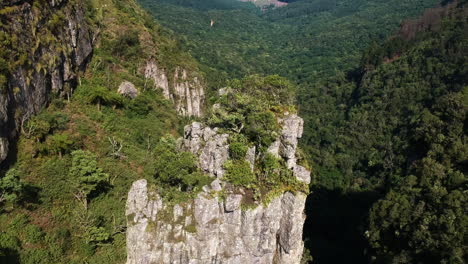
[[[96,155],[89,151],[72,152],[69,176],[76,185],[75,197],[83,203],[85,209],[88,208],[90,195],[97,193],[109,181],[109,175],[98,168],[96,159]]]

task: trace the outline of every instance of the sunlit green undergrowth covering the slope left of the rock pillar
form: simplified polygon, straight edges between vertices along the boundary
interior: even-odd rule
[[[71,98],[53,98],[24,120],[16,162],[6,180],[2,172],[0,195],[9,194],[0,199],[2,263],[125,263],[131,184],[156,182],[161,138],[178,137],[187,121],[141,69],[153,58],[166,69],[196,70],[171,33],[133,1],[84,2],[77,4],[86,4],[88,23],[99,32],[93,58]],[[137,98],[117,93],[123,81],[135,85]],[[185,199],[184,191],[206,180],[200,175],[184,178],[186,188],[178,192],[164,189],[167,199]]]

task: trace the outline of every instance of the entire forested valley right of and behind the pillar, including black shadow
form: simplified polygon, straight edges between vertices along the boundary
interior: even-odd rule
[[[463,1],[140,2],[212,87],[248,74],[298,84],[313,263],[466,261]]]

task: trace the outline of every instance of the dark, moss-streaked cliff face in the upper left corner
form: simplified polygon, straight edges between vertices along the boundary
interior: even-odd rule
[[[70,95],[92,53],[81,1],[15,1],[0,6],[7,82],[0,90],[0,162],[21,123],[53,96]],[[5,58],[3,58],[5,59]]]

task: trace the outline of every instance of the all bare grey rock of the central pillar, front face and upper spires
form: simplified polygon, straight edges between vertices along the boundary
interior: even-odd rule
[[[309,183],[310,172],[295,162],[303,121],[291,114],[280,123],[282,133],[270,151],[299,181]],[[133,184],[126,208],[127,264],[300,262],[306,195],[285,191],[247,209],[249,193],[230,189],[223,181],[228,138],[200,123],[186,126],[181,149],[198,155],[200,168],[216,178],[192,202],[171,207],[146,180]],[[246,160],[253,165],[257,155],[250,148]]]

